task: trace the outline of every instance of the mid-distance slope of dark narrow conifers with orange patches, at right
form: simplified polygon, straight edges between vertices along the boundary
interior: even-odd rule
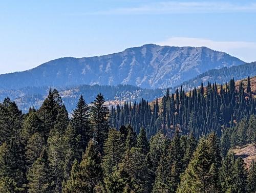
[[[110,122],[116,128],[131,124],[136,133],[144,127],[148,138],[158,130],[172,137],[176,126],[183,135],[194,133],[196,138],[210,132],[220,136],[223,128],[232,127],[234,123],[255,114],[254,95],[250,78],[246,83],[241,81],[238,90],[233,79],[225,85],[208,83],[203,87],[201,84],[199,89],[189,93],[181,87],[175,94],[167,90],[161,103],[156,99],[154,106],[141,99],[134,106],[125,103],[124,106],[112,108]]]

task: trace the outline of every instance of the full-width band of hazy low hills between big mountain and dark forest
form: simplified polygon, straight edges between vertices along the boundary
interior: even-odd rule
[[[182,88],[184,91],[193,90],[194,87],[199,87],[201,82],[207,84],[207,82],[221,84],[228,82],[230,79],[234,80],[244,79],[247,76],[253,77],[256,75],[256,62],[246,63],[240,66],[233,66],[230,68],[222,68],[219,70],[209,70],[196,78],[190,79],[181,83],[178,87],[169,88],[170,93],[176,92],[176,89]],[[80,95],[82,94],[84,99],[88,103],[94,100],[98,93],[102,93],[105,97],[108,105],[113,103],[123,103],[139,101],[141,98],[152,101],[157,97],[162,97],[166,92],[165,89],[142,89],[133,85],[78,85],[74,87],[53,87],[59,91],[63,103],[69,114],[75,109],[76,103]],[[50,87],[26,87],[23,89],[0,90],[0,101],[3,101],[7,96],[14,100],[19,109],[24,113],[27,113],[31,106],[35,109],[39,109],[42,102],[48,95]]]

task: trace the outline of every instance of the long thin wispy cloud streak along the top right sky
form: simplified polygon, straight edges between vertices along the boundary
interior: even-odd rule
[[[94,14],[179,14],[256,12],[256,3],[231,2],[158,2],[135,7],[115,8]]]

